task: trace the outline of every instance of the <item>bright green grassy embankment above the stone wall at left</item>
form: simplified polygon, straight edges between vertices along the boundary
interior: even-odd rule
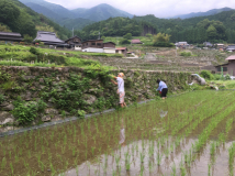
[[[0,65],[4,66],[41,66],[41,67],[64,67],[76,66],[81,68],[96,68],[102,65],[92,58],[122,57],[120,54],[82,53],[77,51],[58,51],[37,47],[36,52],[30,52],[31,46],[0,45]],[[105,66],[108,68],[108,66]],[[109,67],[111,69],[113,67]]]

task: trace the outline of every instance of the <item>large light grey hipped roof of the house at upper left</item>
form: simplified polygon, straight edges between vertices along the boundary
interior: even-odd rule
[[[40,40],[42,42],[65,43],[64,41],[59,40],[54,32],[45,31],[38,31],[34,41],[36,40]]]

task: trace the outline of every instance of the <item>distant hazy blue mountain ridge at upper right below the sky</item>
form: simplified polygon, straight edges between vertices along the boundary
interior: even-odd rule
[[[206,15],[213,15],[213,14],[217,14],[217,13],[221,13],[221,12],[224,12],[224,11],[231,11],[233,9],[231,8],[222,8],[222,9],[212,9],[212,10],[209,10],[206,12],[198,12],[198,13],[189,13],[189,14],[180,14],[180,15],[176,15],[176,16],[172,16],[172,19],[190,19],[190,18],[195,18],[195,16],[206,16]]]

